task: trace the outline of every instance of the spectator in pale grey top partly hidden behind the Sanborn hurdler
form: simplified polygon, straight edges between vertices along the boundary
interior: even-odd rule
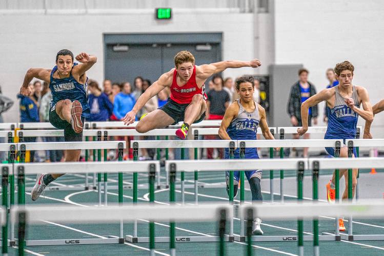
[[[47,82],[44,82],[43,88],[46,88]],[[42,100],[40,102],[39,116],[41,122],[49,122],[49,105],[52,100],[51,90],[49,89],[49,84],[45,94],[42,96]],[[43,141],[46,142],[62,142],[64,141],[64,137],[43,137]],[[46,151],[46,162],[60,162],[64,161],[63,159],[63,151],[62,150],[50,150]]]

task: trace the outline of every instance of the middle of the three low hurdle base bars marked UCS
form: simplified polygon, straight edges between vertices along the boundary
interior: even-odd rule
[[[127,235],[125,241],[128,243],[149,243],[149,237],[133,237]],[[219,242],[220,237],[175,237],[176,243],[194,243],[194,242]],[[225,236],[224,242],[234,242],[234,237]],[[155,237],[155,243],[169,243],[170,237]]]

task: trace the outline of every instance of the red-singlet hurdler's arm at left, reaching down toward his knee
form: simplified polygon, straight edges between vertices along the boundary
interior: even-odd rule
[[[157,95],[160,91],[164,90],[167,86],[170,85],[170,83],[172,83],[173,76],[171,73],[173,74],[173,72],[168,72],[161,75],[157,81],[152,83],[152,85],[148,87],[148,89],[142,95],[140,95],[136,101],[136,104],[133,106],[133,109],[123,118],[125,125],[133,123],[135,121],[137,112],[143,108],[148,100]]]

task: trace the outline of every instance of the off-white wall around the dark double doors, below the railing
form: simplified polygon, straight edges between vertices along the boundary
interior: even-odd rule
[[[15,100],[4,114],[5,122],[19,121],[16,94],[28,68],[54,66],[56,53],[70,49],[97,56],[90,78],[104,79],[103,33],[223,32],[223,59],[253,58],[253,14],[228,9],[217,12],[173,10],[170,21],[156,21],[153,9],[107,14],[0,14],[0,84],[3,94]],[[214,10],[213,10],[214,11]],[[228,70],[225,76],[253,73],[252,69]]]

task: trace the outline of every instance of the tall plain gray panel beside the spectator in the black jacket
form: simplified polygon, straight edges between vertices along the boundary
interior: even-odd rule
[[[269,66],[271,77],[269,126],[291,126],[287,104],[291,86],[298,80],[297,71],[300,68],[301,64]]]

